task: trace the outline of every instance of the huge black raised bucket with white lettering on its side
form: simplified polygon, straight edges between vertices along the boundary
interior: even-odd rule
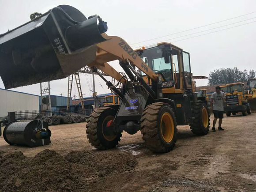
[[[6,89],[62,79],[96,57],[107,25],[97,15],[60,5],[0,34],[0,76]]]

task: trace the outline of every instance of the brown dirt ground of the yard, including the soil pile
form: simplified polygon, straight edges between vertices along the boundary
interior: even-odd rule
[[[98,151],[85,123],[50,127],[52,144],[43,147],[10,146],[1,136],[0,191],[256,191],[256,113],[225,116],[222,125],[206,136],[178,126],[166,154],[149,151],[140,132]]]

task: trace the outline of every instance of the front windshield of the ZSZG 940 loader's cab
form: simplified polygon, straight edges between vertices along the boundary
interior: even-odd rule
[[[166,81],[172,80],[171,62],[165,63],[164,53],[158,47],[152,47],[139,51],[140,58],[149,66],[154,72],[161,72]],[[144,73],[142,75],[145,75]]]

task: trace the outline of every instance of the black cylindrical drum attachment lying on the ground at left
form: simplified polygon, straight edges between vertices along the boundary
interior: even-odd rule
[[[51,131],[42,120],[11,122],[5,126],[3,136],[10,145],[38,147],[51,143]]]

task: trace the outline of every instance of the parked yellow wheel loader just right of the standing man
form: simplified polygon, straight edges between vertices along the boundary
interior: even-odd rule
[[[230,83],[226,85],[226,106],[224,106],[224,111],[226,116],[236,115],[236,113],[241,112],[243,116],[251,114],[250,105],[245,98],[244,93],[244,83]]]

